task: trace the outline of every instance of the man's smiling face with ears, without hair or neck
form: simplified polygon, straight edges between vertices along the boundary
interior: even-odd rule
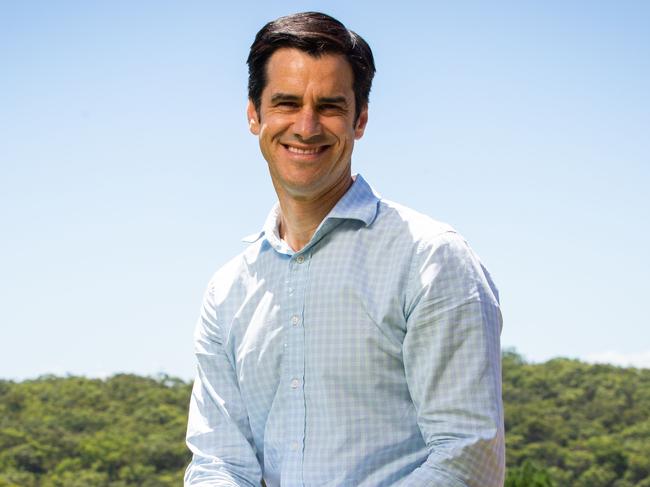
[[[368,110],[355,121],[354,76],[345,57],[279,49],[266,78],[259,116],[250,100],[247,114],[278,194],[313,199],[347,182]]]

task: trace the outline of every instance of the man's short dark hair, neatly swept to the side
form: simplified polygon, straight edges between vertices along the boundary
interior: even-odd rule
[[[262,91],[266,86],[266,64],[271,55],[283,47],[300,49],[318,57],[342,54],[354,75],[355,120],[368,104],[368,95],[375,75],[375,61],[370,46],[345,25],[320,12],[302,12],[280,17],[266,24],[255,36],[246,63],[248,64],[248,98],[260,113]]]

